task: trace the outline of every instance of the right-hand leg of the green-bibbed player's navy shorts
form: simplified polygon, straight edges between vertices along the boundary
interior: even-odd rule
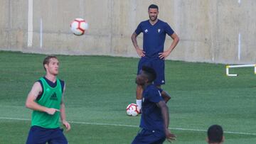
[[[52,135],[50,136],[49,144],[68,144],[67,138],[63,134],[62,128],[55,128],[52,131]]]

